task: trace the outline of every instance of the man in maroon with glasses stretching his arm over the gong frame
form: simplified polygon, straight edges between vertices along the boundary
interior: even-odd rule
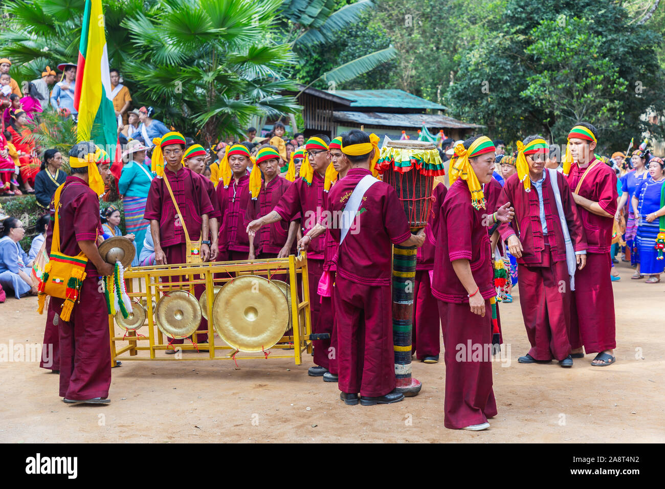
[[[247,226],[247,233],[254,236],[266,224],[279,220],[290,222],[300,214],[303,233],[307,234],[319,222],[321,213],[327,208],[327,192],[323,191],[326,169],[330,164],[328,144],[330,138],[323,134],[313,136],[307,140],[305,150],[307,158],[303,161],[300,178],[297,178],[283,194],[275,209],[253,220]],[[309,238],[307,238],[309,240]],[[312,331],[315,335],[323,335],[324,339],[313,340],[314,367],[309,367],[307,373],[312,377],[323,377],[329,371],[329,348],[331,345],[332,319],[330,316],[319,316],[321,298],[317,289],[323,273],[323,259],[325,251],[325,236],[319,236],[309,243],[307,251],[307,279],[309,283],[309,307],[311,311]]]

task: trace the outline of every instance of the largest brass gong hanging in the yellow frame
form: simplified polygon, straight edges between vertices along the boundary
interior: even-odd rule
[[[285,295],[259,275],[243,275],[227,282],[215,298],[212,315],[221,339],[240,351],[273,347],[289,325]]]

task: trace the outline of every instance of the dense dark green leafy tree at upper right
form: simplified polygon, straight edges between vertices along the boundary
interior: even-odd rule
[[[662,137],[640,118],[665,111],[662,35],[629,21],[618,2],[511,0],[489,21],[493,35],[462,55],[446,100],[507,140],[545,132],[563,144],[577,116],[599,126],[601,150],[644,130]]]

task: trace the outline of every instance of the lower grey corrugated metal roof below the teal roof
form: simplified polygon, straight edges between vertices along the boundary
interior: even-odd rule
[[[462,122],[452,117],[436,114],[386,114],[384,112],[346,112],[335,110],[332,117],[338,122],[355,122],[368,126],[447,127],[453,129],[481,128],[479,124]]]

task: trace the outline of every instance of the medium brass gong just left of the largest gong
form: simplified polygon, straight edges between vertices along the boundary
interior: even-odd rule
[[[201,323],[201,306],[186,290],[165,293],[156,307],[157,327],[170,338],[191,336]]]

